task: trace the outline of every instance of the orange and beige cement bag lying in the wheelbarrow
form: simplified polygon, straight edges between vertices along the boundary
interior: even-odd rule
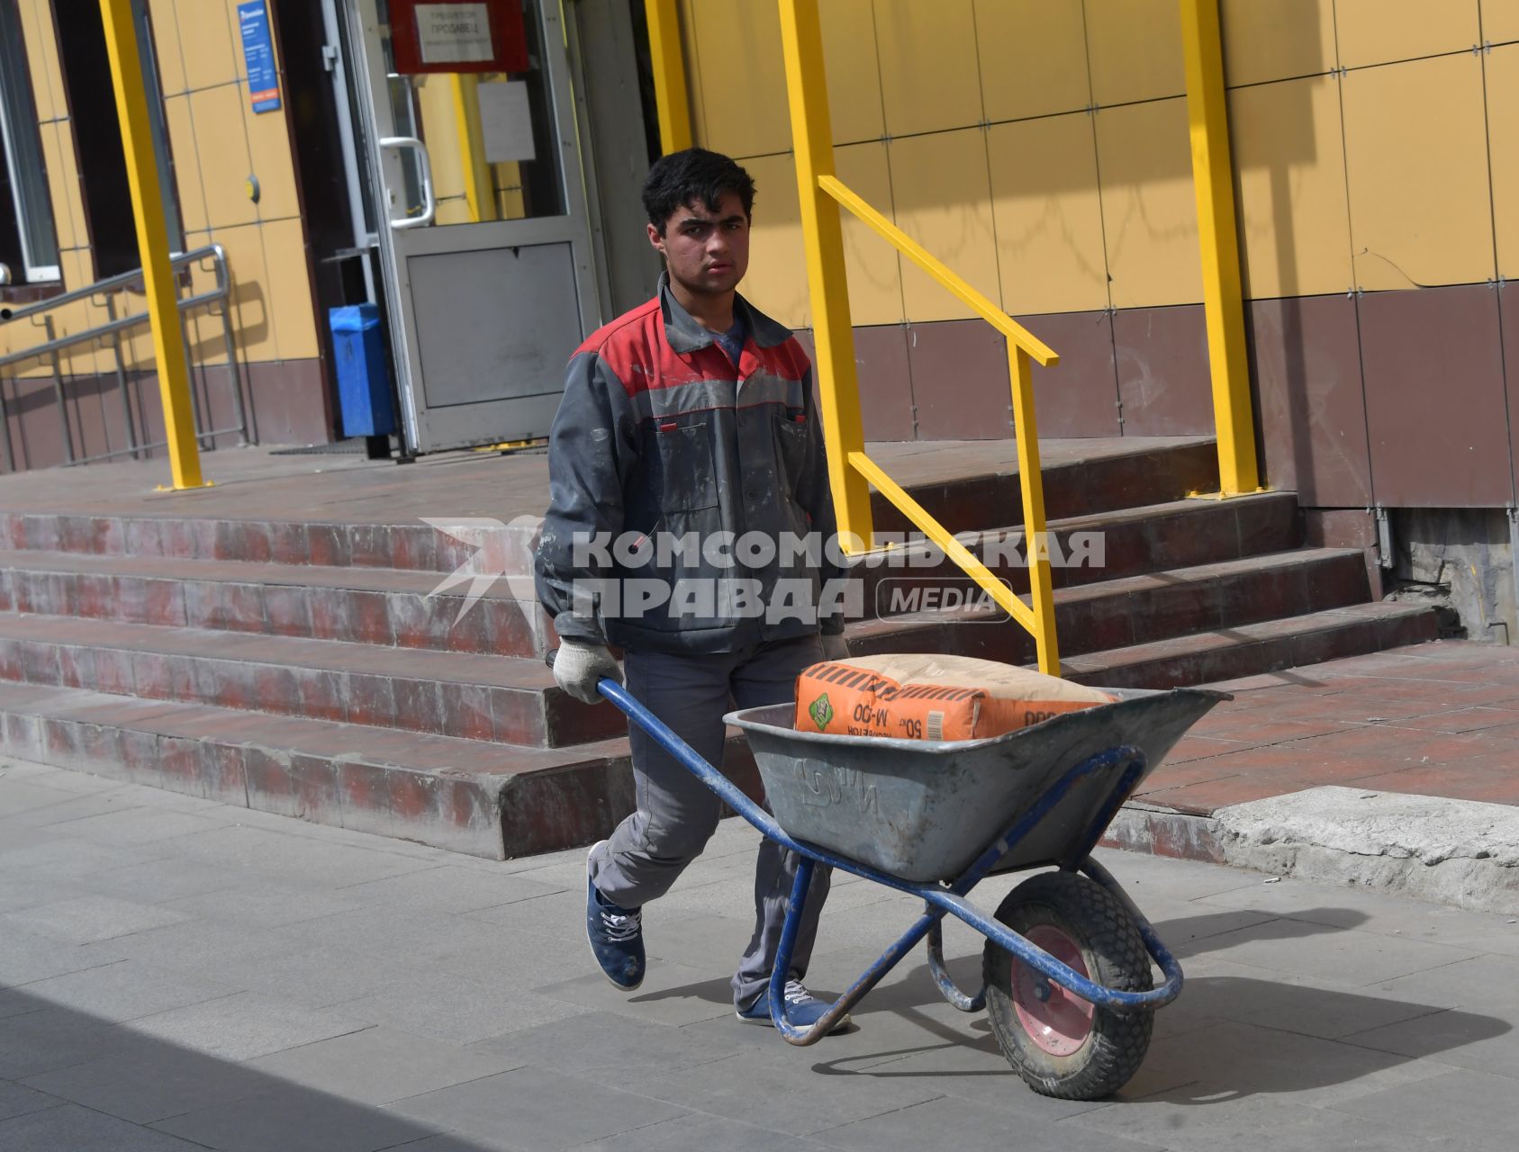
[[[796,729],[971,741],[1112,700],[1095,688],[969,656],[861,656],[814,663],[796,677]]]

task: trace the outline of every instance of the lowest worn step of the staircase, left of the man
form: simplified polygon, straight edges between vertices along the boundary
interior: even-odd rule
[[[23,759],[491,859],[583,844],[633,803],[626,739],[509,748],[47,685],[5,686],[0,722]]]

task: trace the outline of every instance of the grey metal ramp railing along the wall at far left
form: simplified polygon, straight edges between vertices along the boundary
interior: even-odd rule
[[[196,439],[204,448],[211,446],[211,440],[217,436],[232,436],[237,434],[237,443],[248,443],[248,411],[243,404],[243,379],[242,369],[237,363],[237,342],[232,335],[232,281],[226,267],[226,250],[220,244],[207,244],[205,247],[197,247],[185,252],[181,257],[173,257],[170,261],[173,269],[178,272],[187,267],[204,267],[210,261],[216,272],[216,285],[207,291],[196,293],[193,296],[182,297],[179,304],[179,326],[184,332],[185,316],[201,307],[220,305],[216,314],[222,317],[222,343],[226,354],[226,369],[228,381],[232,389],[232,410],[237,417],[237,423],[231,428],[205,428],[205,416],[202,413],[201,396],[196,389],[190,389],[191,407],[194,411],[194,428]],[[6,369],[14,366],[27,364],[32,361],[44,361],[52,366],[53,370],[53,398],[58,405],[58,417],[62,425],[64,436],[64,455],[67,464],[88,464],[97,460],[114,460],[115,457],[131,455],[134,460],[140,458],[144,452],[150,452],[159,448],[167,448],[167,440],[153,440],[149,443],[138,442],[137,420],[132,416],[132,398],[128,387],[128,361],[122,351],[123,334],[134,328],[146,326],[149,323],[149,314],[135,313],[131,316],[117,316],[117,297],[125,293],[131,285],[140,284],[143,279],[141,270],[123,272],[117,276],[109,276],[103,281],[97,281],[84,288],[76,288],[74,291],[64,293],[62,296],[53,296],[52,299],[43,301],[39,304],[29,305],[26,308],[17,308],[8,316],[0,319],[5,320],[6,328],[14,328],[21,320],[29,320],[43,329],[46,337],[44,343],[33,345],[30,348],[18,349],[14,352],[6,352],[0,355],[0,454],[5,457],[5,467],[8,472],[15,471],[15,449],[11,445],[11,422],[9,422],[9,401],[6,399],[6,384],[21,379],[21,376],[12,375],[8,378],[5,375]],[[79,332],[67,332],[64,335],[56,335],[55,313],[58,308],[64,308],[71,304],[79,304],[82,301],[96,302],[105,308],[106,319],[105,323],[97,323],[93,328],[87,328]],[[126,430],[128,446],[115,448],[105,452],[96,452],[94,455],[81,457],[74,451],[74,436],[73,425],[68,420],[68,390],[79,384],[81,379],[90,379],[90,375],[74,375],[68,379],[64,378],[62,352],[65,349],[77,348],[79,345],[94,345],[96,351],[109,349],[115,361],[115,384],[117,393],[122,399],[122,419]],[[190,342],[185,340],[185,348],[190,349]],[[193,355],[193,354],[190,354]],[[202,382],[204,369],[202,367]],[[134,366],[132,370],[143,370],[143,366]],[[105,375],[99,370],[93,373],[96,381]],[[210,404],[210,395],[207,396],[207,404]],[[106,442],[109,445],[109,440]]]

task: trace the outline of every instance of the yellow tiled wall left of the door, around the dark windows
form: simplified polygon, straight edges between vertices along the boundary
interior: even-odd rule
[[[64,287],[74,290],[91,284],[96,269],[59,70],[55,15],[50,0],[18,0],[18,8],[41,121],[61,273]],[[185,246],[217,241],[226,249],[237,346],[246,361],[316,357],[316,310],[287,109],[252,112],[237,33],[237,0],[149,0],[149,12]],[[258,203],[249,199],[249,176],[258,179]],[[196,282],[205,278],[197,275]],[[81,305],[59,310],[56,322],[62,332],[79,331],[102,316],[99,308]],[[219,320],[196,319],[190,334],[193,345],[205,346],[208,358],[222,357]],[[0,342],[5,338],[0,335]],[[146,334],[134,337],[131,351],[141,363],[152,358]],[[64,370],[94,372],[97,366],[112,370],[114,360],[108,354],[77,352],[65,360]]]

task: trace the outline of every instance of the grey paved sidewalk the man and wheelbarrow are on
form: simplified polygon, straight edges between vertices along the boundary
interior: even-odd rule
[[[1188,985],[1120,1099],[1062,1103],[917,955],[817,1047],[734,1020],[755,844],[725,821],[650,906],[624,996],[585,946],[582,851],[497,864],[0,763],[0,1147],[1513,1146],[1510,917],[1104,851]],[[914,914],[840,877],[810,984],[842,988]],[[946,935],[971,984],[977,938]]]

